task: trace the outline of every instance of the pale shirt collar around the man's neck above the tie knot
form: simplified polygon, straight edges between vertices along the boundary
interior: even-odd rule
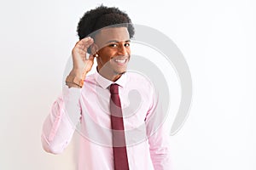
[[[98,73],[98,71],[96,71],[96,73],[95,73],[96,82],[104,89],[108,88],[113,83],[116,83],[119,86],[121,86],[122,88],[124,88],[125,83],[126,83],[126,79],[127,79],[126,73],[124,73],[121,77],[119,77],[119,79],[115,82],[112,82],[112,81],[108,80],[107,78],[102,77],[102,75],[100,75]]]

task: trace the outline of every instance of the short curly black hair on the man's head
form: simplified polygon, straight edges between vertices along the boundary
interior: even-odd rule
[[[134,36],[134,27],[131,24],[131,19],[128,14],[120,11],[119,8],[109,8],[101,5],[95,9],[87,11],[79,20],[77,28],[79,40],[106,26],[125,26],[129,32],[130,38]],[[94,36],[90,35],[90,37]],[[90,48],[88,48],[88,52],[90,53]]]

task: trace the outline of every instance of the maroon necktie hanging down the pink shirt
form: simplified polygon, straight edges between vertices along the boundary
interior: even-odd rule
[[[119,99],[119,85],[110,86],[110,113],[113,132],[113,163],[114,170],[129,170],[128,158],[125,146],[125,131],[121,102]]]

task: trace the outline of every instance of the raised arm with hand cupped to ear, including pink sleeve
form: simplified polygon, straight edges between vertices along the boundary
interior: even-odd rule
[[[90,37],[85,37],[76,43],[72,51],[73,70],[68,77],[76,77],[84,82],[86,74],[93,65],[93,55],[86,59],[87,48],[92,43],[93,39]],[[67,147],[81,116],[79,98],[82,87],[78,86],[77,82],[70,80],[66,82],[67,86],[63,88],[63,94],[55,100],[49,116],[44,121],[41,136],[44,150],[53,154],[59,154]]]

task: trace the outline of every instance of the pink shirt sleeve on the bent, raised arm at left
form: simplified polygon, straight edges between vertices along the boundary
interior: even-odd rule
[[[63,87],[63,93],[52,105],[41,135],[45,151],[60,154],[72,139],[81,116],[80,92],[79,88]]]

